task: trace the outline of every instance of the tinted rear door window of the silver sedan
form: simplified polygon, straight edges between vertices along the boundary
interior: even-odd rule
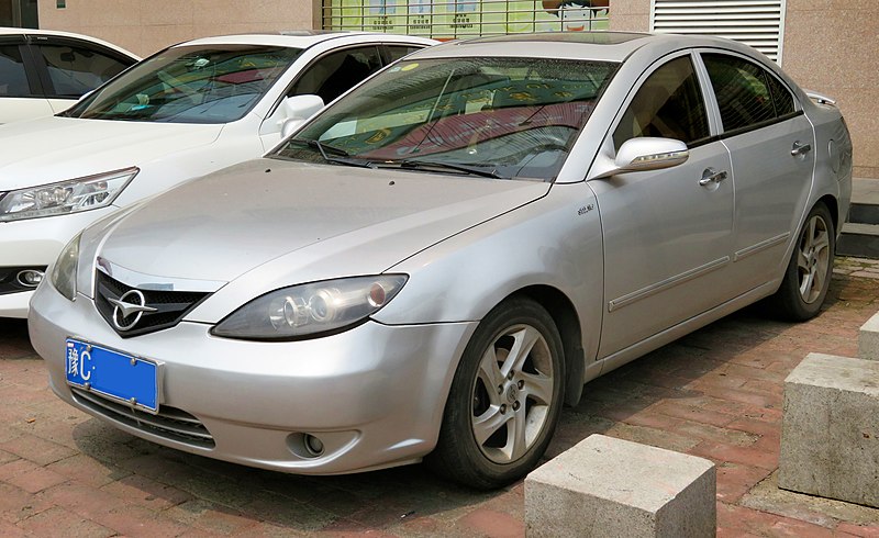
[[[705,54],[702,58],[725,132],[793,113],[790,91],[763,67],[722,54]]]

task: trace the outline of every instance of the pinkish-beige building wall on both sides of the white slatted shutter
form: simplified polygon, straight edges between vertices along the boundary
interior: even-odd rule
[[[611,0],[611,30],[647,31],[650,0]],[[879,0],[788,0],[782,67],[830,96],[855,144],[855,177],[879,178]]]

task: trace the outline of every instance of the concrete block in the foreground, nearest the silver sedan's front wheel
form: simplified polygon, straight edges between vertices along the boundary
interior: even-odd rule
[[[714,463],[592,435],[525,479],[531,537],[706,537],[716,533]]]

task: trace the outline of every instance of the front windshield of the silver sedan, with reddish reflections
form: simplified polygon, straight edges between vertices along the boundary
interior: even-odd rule
[[[276,156],[552,180],[615,69],[545,58],[404,60],[326,109]]]

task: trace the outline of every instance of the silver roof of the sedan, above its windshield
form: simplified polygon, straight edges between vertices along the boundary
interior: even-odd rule
[[[636,51],[655,48],[657,54],[688,47],[748,47],[721,37],[704,35],[649,34],[636,32],[542,32],[476,37],[419,51],[415,58],[449,56],[507,56],[533,58],[623,61]]]

